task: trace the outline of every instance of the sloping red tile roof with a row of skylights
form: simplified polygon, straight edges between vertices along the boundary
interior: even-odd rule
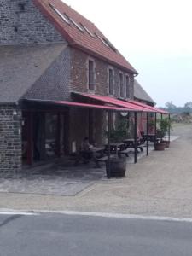
[[[80,32],[80,30],[71,24],[68,25],[64,20],[61,19],[59,15],[49,6],[49,3],[55,6],[61,14],[67,14],[78,24],[83,24],[88,28],[93,34],[96,33],[99,37],[105,38],[105,36],[98,30],[98,28],[80,15],[78,12],[69,7],[66,3],[61,2],[61,0],[33,0],[33,2],[38,6],[41,12],[53,23],[56,29],[61,32],[64,38],[67,39],[68,43],[73,45],[73,47],[84,50],[90,55],[96,55],[103,61],[108,61],[109,63],[116,65],[129,71],[131,73],[136,73],[137,71],[131,64],[125,60],[124,56],[119,53],[118,50],[114,51],[112,48],[106,46],[102,43],[100,38],[91,37],[89,32]],[[107,39],[107,38],[106,38]]]

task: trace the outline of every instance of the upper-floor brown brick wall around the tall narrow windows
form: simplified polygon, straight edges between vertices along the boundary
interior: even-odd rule
[[[130,88],[129,95],[133,99],[134,89],[133,83],[134,78],[131,73],[125,73],[125,71],[120,70],[118,67],[108,65],[107,62],[101,61],[99,59],[93,58],[90,55],[85,54],[78,49],[71,50],[71,81],[70,90],[78,92],[89,92],[88,89],[88,61],[94,61],[95,66],[95,90],[90,91],[97,95],[108,95],[108,68],[113,69],[113,96],[119,97],[119,72],[123,73],[124,80],[125,76],[130,77]],[[124,83],[125,84],[125,83]],[[126,96],[125,96],[126,98]]]

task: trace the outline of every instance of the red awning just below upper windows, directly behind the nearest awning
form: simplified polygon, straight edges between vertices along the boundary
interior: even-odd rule
[[[73,92],[74,95],[77,96],[84,96],[99,102],[103,102],[103,103],[107,103],[107,104],[111,104],[111,105],[115,105],[115,106],[119,106],[120,108],[129,108],[132,110],[135,110],[137,112],[156,112],[152,109],[148,109],[146,107],[143,106],[137,106],[136,104],[133,104],[131,102],[125,102],[125,101],[121,101],[109,96],[98,96],[98,95],[92,95],[92,94],[88,94],[88,93],[79,93],[79,92]]]

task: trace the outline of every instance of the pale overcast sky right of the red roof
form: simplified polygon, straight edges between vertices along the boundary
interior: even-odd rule
[[[157,106],[192,101],[191,0],[64,0],[137,69]]]

